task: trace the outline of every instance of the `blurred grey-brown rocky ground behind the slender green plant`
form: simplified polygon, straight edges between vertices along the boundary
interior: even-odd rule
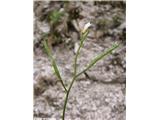
[[[125,120],[125,2],[34,2],[34,117],[60,120],[64,91],[43,49],[47,40],[65,80],[73,74],[80,31],[92,23],[78,69],[115,42],[120,47],[80,76],[69,95],[66,120]]]

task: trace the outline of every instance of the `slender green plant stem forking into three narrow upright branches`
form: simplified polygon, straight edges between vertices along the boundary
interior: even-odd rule
[[[89,64],[88,66],[82,70],[80,73],[77,74],[77,59],[78,59],[78,56],[79,56],[79,53],[80,53],[80,49],[83,47],[83,43],[85,41],[85,39],[87,38],[87,35],[88,35],[89,31],[86,31],[85,33],[82,34],[82,37],[81,37],[81,41],[80,41],[80,46],[77,50],[77,53],[76,53],[76,56],[75,56],[75,59],[74,59],[74,74],[73,74],[73,78],[71,80],[71,83],[69,84],[69,88],[67,90],[67,88],[65,87],[64,83],[63,83],[63,80],[62,80],[62,77],[60,75],[60,72],[58,70],[58,67],[57,67],[57,64],[54,60],[54,57],[52,56],[52,52],[51,50],[49,49],[48,47],[48,44],[46,41],[44,41],[44,48],[49,56],[49,59],[52,63],[52,71],[53,73],[56,74],[57,78],[60,80],[65,92],[66,92],[66,95],[65,95],[65,100],[64,100],[64,107],[63,107],[63,113],[62,113],[62,120],[65,120],[65,111],[66,111],[66,107],[67,107],[67,103],[68,103],[68,98],[69,98],[69,93],[70,93],[70,90],[73,86],[73,83],[75,82],[76,78],[79,77],[81,74],[83,74],[84,72],[86,72],[87,70],[89,70],[92,66],[94,66],[98,61],[100,61],[102,58],[104,58],[105,56],[109,55],[112,53],[113,50],[115,50],[119,44],[115,44],[113,45],[112,48],[110,48],[109,50],[101,53],[100,55],[98,55],[97,57],[95,57]]]

